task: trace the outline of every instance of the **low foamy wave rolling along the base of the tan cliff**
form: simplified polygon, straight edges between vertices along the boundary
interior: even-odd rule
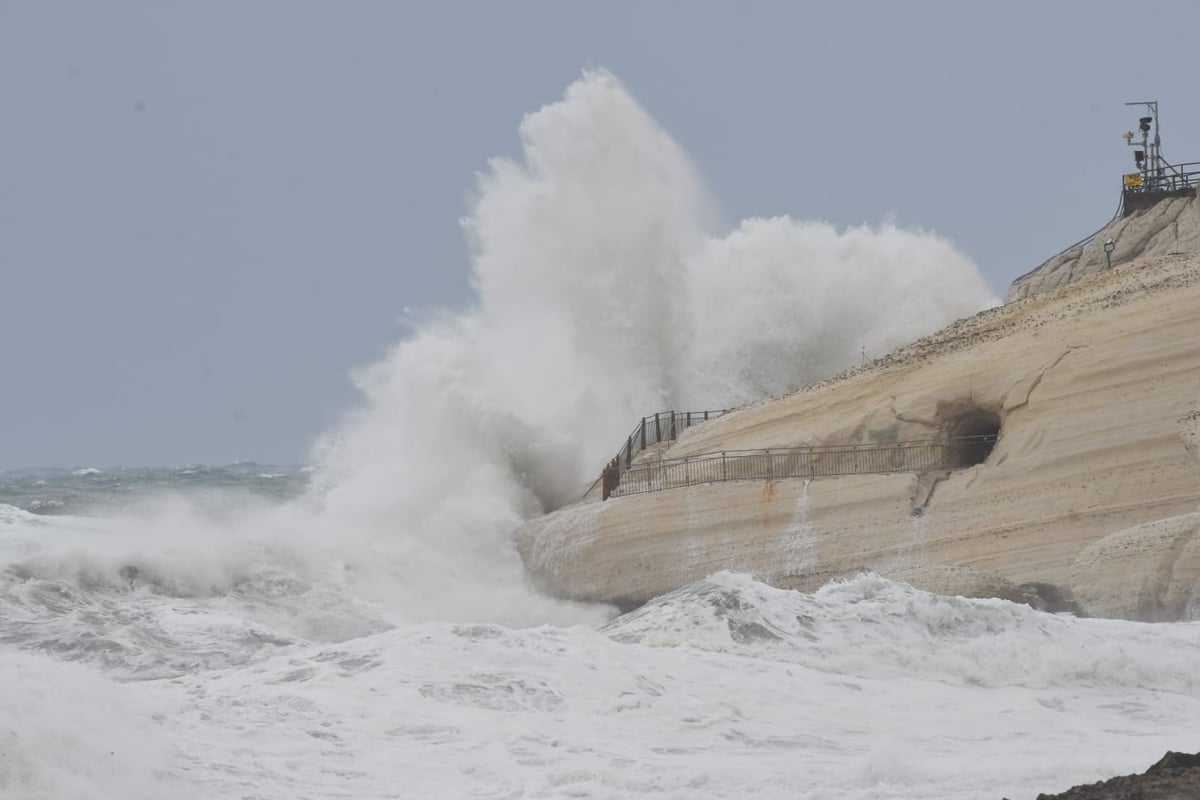
[[[1200,692],[1195,631],[1195,625],[1082,620],[1006,600],[944,597],[874,573],[803,594],[731,572],[658,597],[601,628],[618,642],[750,649],[756,657],[832,674],[1189,696]],[[1164,640],[1171,646],[1164,649]]]

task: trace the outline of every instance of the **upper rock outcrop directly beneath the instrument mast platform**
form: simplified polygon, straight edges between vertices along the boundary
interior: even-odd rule
[[[1200,198],[1174,197],[1117,217],[1088,242],[1052,257],[1013,281],[1006,302],[1050,291],[1105,269],[1104,242],[1112,239],[1112,266],[1134,259],[1200,251]]]

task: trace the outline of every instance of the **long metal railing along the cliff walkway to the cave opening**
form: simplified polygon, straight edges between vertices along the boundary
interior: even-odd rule
[[[648,417],[649,419],[649,417]],[[996,435],[780,450],[730,450],[605,468],[604,499],[720,481],[832,477],[961,469],[983,463]]]

